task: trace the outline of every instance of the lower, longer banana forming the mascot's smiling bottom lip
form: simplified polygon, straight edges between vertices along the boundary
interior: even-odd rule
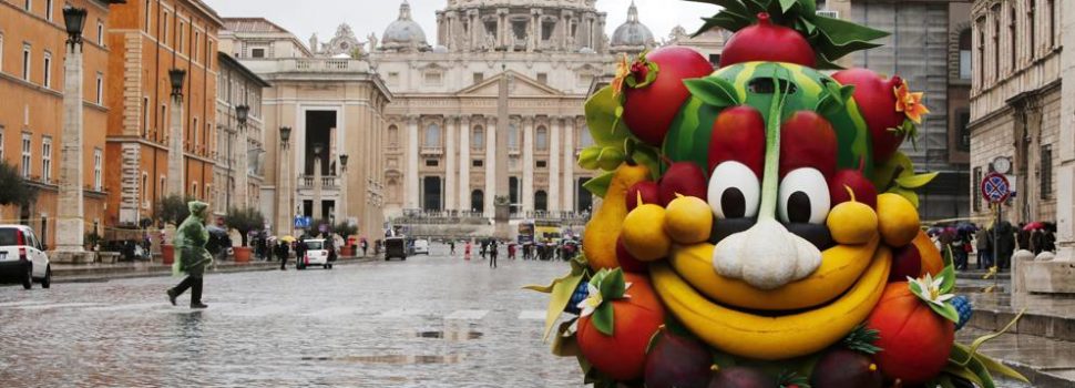
[[[812,310],[777,317],[714,304],[666,263],[651,264],[649,269],[665,307],[706,344],[741,357],[779,360],[825,349],[866,320],[884,290],[891,256],[888,248],[878,249],[859,282],[839,299]]]

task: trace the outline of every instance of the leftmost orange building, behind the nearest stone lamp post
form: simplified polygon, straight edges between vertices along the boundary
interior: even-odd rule
[[[0,0],[0,159],[17,166],[37,198],[27,206],[0,207],[0,223],[33,227],[55,246],[61,145],[63,63],[68,33],[63,7],[88,11],[83,29],[83,197],[86,233],[102,231],[105,198],[105,132],[114,112],[105,85],[112,83],[106,31],[109,4],[99,0]],[[0,187],[2,188],[2,187]]]

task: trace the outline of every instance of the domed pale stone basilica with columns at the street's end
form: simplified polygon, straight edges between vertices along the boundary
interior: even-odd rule
[[[515,218],[588,213],[582,183],[593,175],[575,165],[593,143],[587,92],[612,73],[613,52],[656,44],[637,9],[627,12],[610,39],[593,0],[450,0],[431,45],[405,1],[379,44],[369,42],[396,96],[386,111],[386,216],[492,218],[496,197]]]

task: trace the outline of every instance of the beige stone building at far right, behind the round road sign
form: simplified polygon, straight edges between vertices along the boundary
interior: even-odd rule
[[[1071,16],[1071,6],[1056,0],[974,2],[969,125],[974,213],[992,214],[977,187],[984,175],[1001,170],[1016,192],[1004,206],[1004,218],[1059,222],[1057,236],[1067,242],[1072,238],[1064,238],[1064,226],[1071,236],[1075,188],[1075,60],[1063,49],[1075,45],[1075,18],[1063,16]]]

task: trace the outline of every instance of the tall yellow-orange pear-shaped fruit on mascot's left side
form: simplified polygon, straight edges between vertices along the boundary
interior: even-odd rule
[[[594,270],[620,266],[620,261],[616,259],[616,239],[623,229],[623,219],[627,217],[627,188],[646,180],[649,180],[649,169],[642,164],[624,163],[616,169],[601,207],[594,212],[586,224],[586,231],[583,232],[583,241],[586,243],[582,245],[582,251]]]

